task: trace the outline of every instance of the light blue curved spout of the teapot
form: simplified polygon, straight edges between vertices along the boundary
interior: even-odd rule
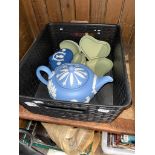
[[[96,81],[96,91],[109,82],[113,82],[113,78],[110,76],[98,77]]]

